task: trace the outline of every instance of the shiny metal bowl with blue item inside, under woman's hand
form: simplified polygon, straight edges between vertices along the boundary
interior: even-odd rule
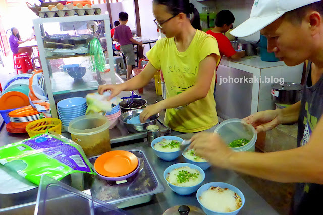
[[[149,119],[150,122],[147,123],[138,123],[138,124],[129,124],[126,123],[127,119],[130,119],[131,117],[135,117],[139,115],[143,109],[135,109],[131,111],[127,111],[120,115],[119,119],[121,124],[125,125],[127,130],[133,133],[143,132],[146,131],[146,128],[148,125],[155,125],[157,122],[157,119],[159,117],[159,113],[152,115]]]

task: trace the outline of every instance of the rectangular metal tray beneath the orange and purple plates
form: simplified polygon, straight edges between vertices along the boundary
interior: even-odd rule
[[[164,186],[157,177],[145,156],[142,147],[129,150],[140,159],[138,173],[127,179],[127,182],[117,184],[115,181],[107,181],[99,176],[91,176],[85,186],[91,190],[93,197],[113,204],[119,208],[130,207],[149,202],[154,194],[163,192]],[[90,157],[89,161],[94,165],[98,156]]]

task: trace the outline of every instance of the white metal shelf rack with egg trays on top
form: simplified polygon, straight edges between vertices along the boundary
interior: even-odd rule
[[[86,57],[89,54],[86,53],[86,54],[75,54],[75,55],[55,55],[55,56],[46,57],[43,36],[45,35],[46,29],[50,30],[51,32],[54,30],[50,29],[51,27],[48,27],[51,24],[46,24],[46,26],[43,24],[45,24],[45,23],[60,23],[59,30],[57,30],[57,32],[52,33],[52,34],[63,34],[64,35],[64,33],[66,33],[66,31],[70,31],[70,30],[65,30],[62,27],[61,23],[68,23],[68,22],[81,23],[81,22],[84,22],[84,26],[87,26],[89,21],[97,21],[97,20],[104,21],[104,29],[105,29],[106,38],[108,39],[108,41],[110,41],[111,40],[111,33],[110,33],[109,14],[37,18],[37,19],[33,20],[36,41],[37,41],[37,45],[38,45],[41,66],[43,68],[46,92],[47,92],[48,100],[50,103],[52,117],[55,117],[55,118],[58,117],[54,95],[56,95],[56,98],[57,98],[57,97],[64,97],[64,94],[68,94],[68,93],[93,91],[98,88],[99,84],[103,84],[104,81],[102,81],[100,79],[98,79],[99,81],[97,81],[93,77],[92,71],[90,71],[89,69],[87,69],[87,72],[84,75],[84,77],[82,78],[82,80],[77,80],[77,81],[75,81],[72,77],[70,77],[68,75],[68,73],[66,73],[66,72],[52,72],[53,65],[51,65],[51,61],[49,61],[49,60],[69,58],[69,60],[65,61],[65,63],[71,64],[69,62],[75,63],[75,61],[72,59],[70,60],[70,58],[81,57],[81,56]],[[57,24],[54,24],[54,25],[57,25]],[[67,25],[71,25],[74,28],[73,23],[67,24]],[[62,30],[62,29],[64,29],[64,30]],[[82,32],[82,30],[83,30],[83,32]],[[86,28],[85,28],[85,30],[86,30]],[[77,34],[84,34],[84,29],[76,29],[76,31],[74,30],[74,32]],[[90,34],[90,32],[88,31],[87,34]],[[107,56],[110,59],[113,59],[112,43],[110,43],[110,42],[107,43],[106,46],[104,46],[104,49],[107,50]],[[81,62],[77,62],[77,63],[81,63]],[[64,63],[62,63],[62,65],[63,64]],[[57,65],[55,65],[55,66],[57,66]],[[110,65],[110,71],[114,71],[113,64]],[[110,73],[110,79],[111,79],[112,84],[116,83],[115,73]],[[82,93],[82,94],[84,94],[84,93]],[[65,95],[65,96],[67,96],[67,95]]]

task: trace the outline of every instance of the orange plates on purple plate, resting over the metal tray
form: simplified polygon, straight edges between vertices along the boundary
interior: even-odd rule
[[[122,177],[138,170],[138,158],[129,151],[110,151],[99,156],[94,163],[100,176]]]

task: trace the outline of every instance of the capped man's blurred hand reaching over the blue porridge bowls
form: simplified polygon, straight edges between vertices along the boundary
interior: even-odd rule
[[[191,138],[195,153],[204,157],[212,165],[226,168],[228,159],[234,153],[218,134],[200,132]]]

